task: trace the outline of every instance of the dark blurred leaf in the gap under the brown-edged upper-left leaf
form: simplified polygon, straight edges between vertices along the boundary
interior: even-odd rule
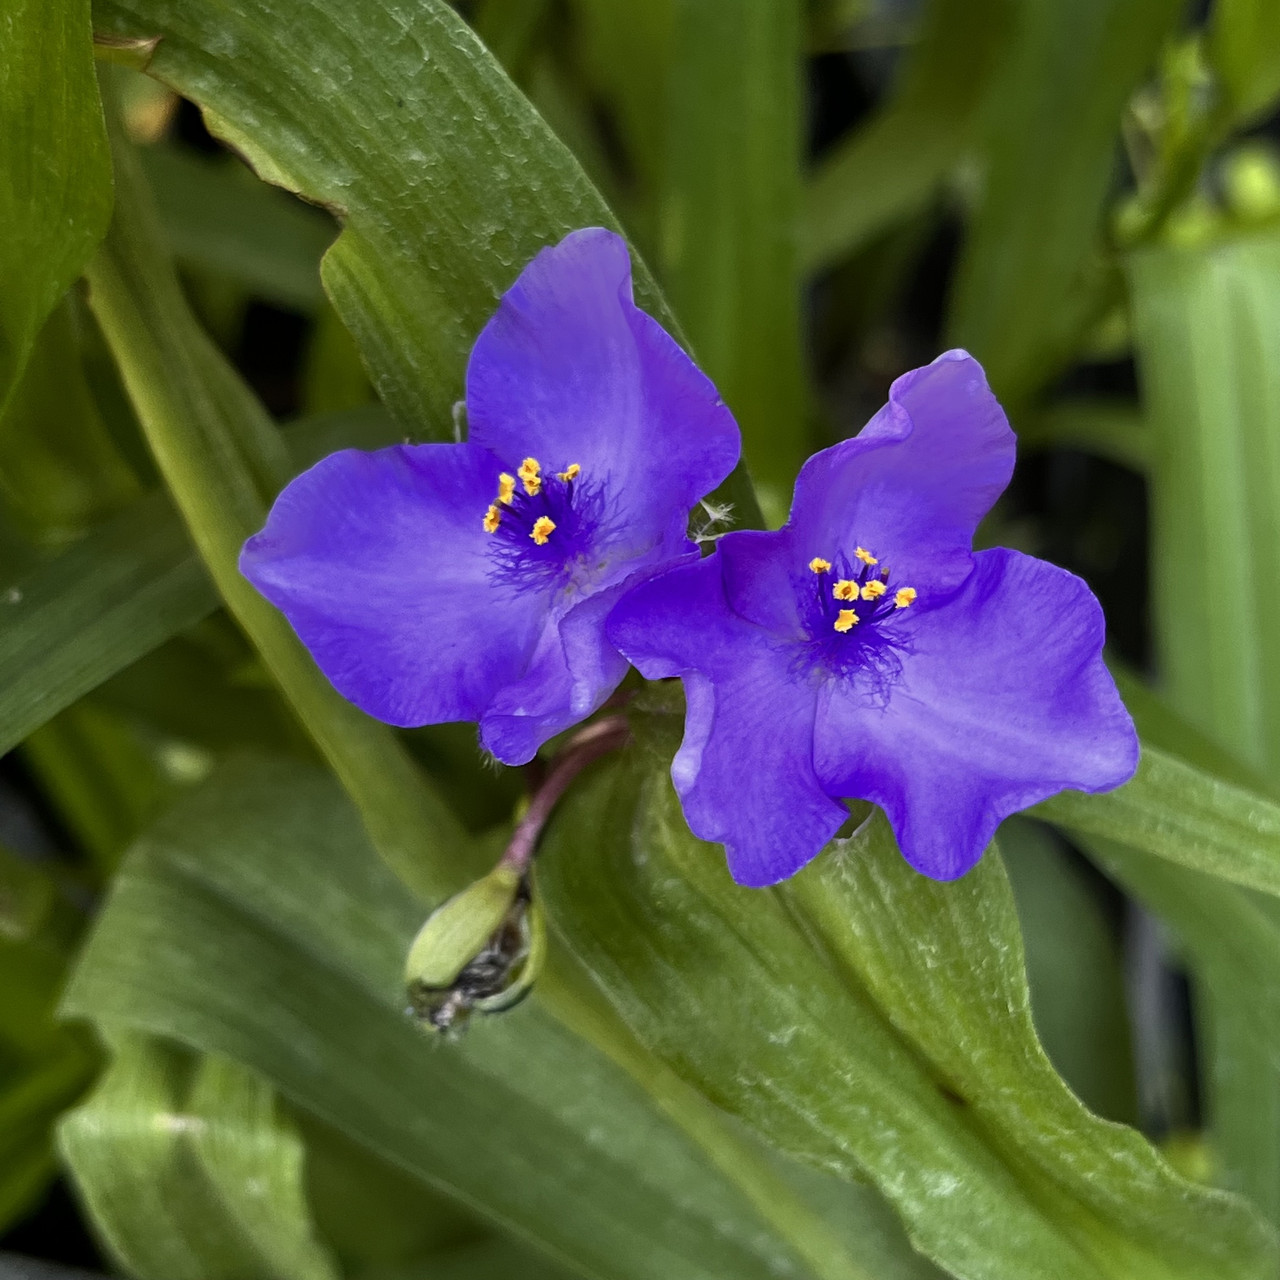
[[[256,297],[314,311],[333,221],[259,182],[230,156],[142,148],[169,246],[180,262],[218,271]]]

